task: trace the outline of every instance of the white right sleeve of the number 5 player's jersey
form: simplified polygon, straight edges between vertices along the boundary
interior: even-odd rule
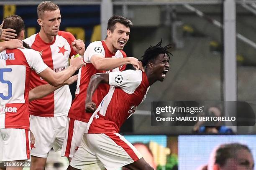
[[[37,74],[44,71],[48,66],[44,63],[41,55],[39,52],[32,50],[32,49],[26,49],[26,59],[28,62],[28,65],[35,70]]]

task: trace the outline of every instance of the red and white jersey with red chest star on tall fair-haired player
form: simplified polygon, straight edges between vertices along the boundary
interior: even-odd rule
[[[72,41],[75,37],[64,31],[59,31],[51,43],[44,42],[39,34],[31,35],[24,41],[32,49],[41,53],[46,65],[54,72],[60,72],[68,67],[69,57],[76,55],[72,48]],[[47,84],[45,80],[39,77],[35,72],[31,73],[30,89],[36,86]],[[72,102],[72,96],[68,85],[55,90],[50,95],[39,100],[29,102],[29,113],[35,116],[56,117],[66,115]]]

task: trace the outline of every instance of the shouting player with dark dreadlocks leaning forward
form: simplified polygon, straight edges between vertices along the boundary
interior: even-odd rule
[[[135,112],[145,99],[150,85],[163,81],[169,70],[169,47],[161,42],[144,53],[141,70],[98,73],[91,77],[87,88],[86,110],[94,112],[87,125],[82,144],[72,158],[68,170],[128,169],[153,170],[136,148],[119,134],[123,122]],[[96,109],[92,95],[100,83],[110,85],[108,94]]]

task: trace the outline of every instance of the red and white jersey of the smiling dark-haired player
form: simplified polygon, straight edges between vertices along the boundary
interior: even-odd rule
[[[97,70],[92,63],[90,62],[92,55],[102,55],[102,57],[114,57],[122,58],[126,57],[125,52],[122,50],[117,50],[115,54],[111,53],[108,50],[107,45],[104,41],[95,41],[88,45],[87,49],[84,52],[84,62],[87,63],[86,67],[83,66],[79,69],[78,80],[77,80],[77,90],[76,97],[74,98],[71,108],[69,110],[68,117],[71,117],[75,120],[80,120],[82,122],[88,122],[92,113],[85,112],[85,100],[87,87],[90,82],[92,75],[101,72],[107,72],[102,70]],[[123,71],[125,70],[125,65],[115,68],[111,71]],[[94,95],[92,96],[92,101],[98,106],[103,99],[103,97],[108,93],[109,85],[101,84],[95,90]]]

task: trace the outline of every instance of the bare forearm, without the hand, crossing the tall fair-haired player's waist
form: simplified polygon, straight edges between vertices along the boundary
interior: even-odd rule
[[[59,85],[57,87],[54,87],[50,84],[37,86],[29,91],[28,100],[32,101],[32,100],[45,97],[46,95],[49,95],[51,92],[54,92],[55,90],[62,87],[63,85],[64,84]]]

